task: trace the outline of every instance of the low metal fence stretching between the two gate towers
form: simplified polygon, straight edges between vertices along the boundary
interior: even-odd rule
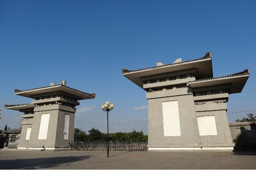
[[[148,141],[109,141],[111,151],[147,151]],[[107,150],[107,142],[69,142],[70,150]]]

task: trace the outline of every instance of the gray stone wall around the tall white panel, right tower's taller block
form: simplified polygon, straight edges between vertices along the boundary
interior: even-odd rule
[[[149,102],[148,147],[201,147],[192,93],[189,88],[166,90],[179,96],[155,98],[164,91],[147,93]],[[149,96],[152,99],[149,99]],[[178,100],[181,136],[164,137],[162,102]]]

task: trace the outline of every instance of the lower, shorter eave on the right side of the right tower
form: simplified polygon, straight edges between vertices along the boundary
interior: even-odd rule
[[[229,94],[233,94],[233,93],[240,93],[242,91],[248,78],[249,78],[249,74],[233,75],[233,76],[208,79],[208,80],[190,81],[188,84],[192,88],[231,84],[231,89],[229,89]]]

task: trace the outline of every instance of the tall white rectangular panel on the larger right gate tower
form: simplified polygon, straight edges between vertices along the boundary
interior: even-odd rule
[[[181,136],[178,101],[162,102],[164,136]]]

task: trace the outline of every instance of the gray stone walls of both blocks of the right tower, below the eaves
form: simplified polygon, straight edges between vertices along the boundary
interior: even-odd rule
[[[196,96],[189,87],[148,92],[149,151],[232,150],[235,145],[232,143],[225,103],[229,95],[222,90],[219,92],[221,94],[202,92],[201,96]],[[166,101],[178,101],[180,136],[164,135],[162,102]],[[205,132],[200,134],[199,128]]]

